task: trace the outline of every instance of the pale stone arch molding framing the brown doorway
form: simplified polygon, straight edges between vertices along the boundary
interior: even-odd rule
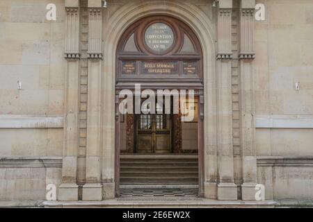
[[[131,1],[104,21],[102,62],[102,180],[115,178],[115,53],[120,36],[128,26],[149,15],[169,15],[185,22],[198,36],[203,51],[204,71],[204,196],[216,198],[216,49],[211,19],[191,3],[179,1]],[[104,184],[104,192],[110,186]],[[112,189],[112,187],[111,187]]]

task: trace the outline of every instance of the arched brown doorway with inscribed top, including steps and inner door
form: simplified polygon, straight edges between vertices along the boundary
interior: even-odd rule
[[[202,66],[200,42],[179,19],[166,15],[145,17],[122,34],[116,52],[115,98],[120,103],[120,92],[126,89],[134,94],[134,107],[132,113],[115,115],[119,118],[115,121],[115,133],[119,135],[115,137],[117,191],[120,185],[196,186],[202,195]],[[136,88],[138,85],[140,89]],[[166,102],[145,103],[147,99],[143,97],[150,97],[142,94],[136,99],[136,93],[147,89],[154,93],[171,92],[168,108]],[[194,92],[194,99],[182,99],[182,91]],[[179,110],[174,112],[177,103]],[[184,107],[193,112],[188,121],[184,119]],[[152,108],[155,112],[151,112]],[[165,112],[167,109],[170,113]]]

